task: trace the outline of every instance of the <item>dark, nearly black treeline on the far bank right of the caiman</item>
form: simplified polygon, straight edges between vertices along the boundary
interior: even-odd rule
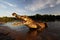
[[[33,16],[30,16],[30,18],[32,18],[33,20],[40,20],[40,21],[60,21],[60,15],[40,15],[40,14],[36,14]]]

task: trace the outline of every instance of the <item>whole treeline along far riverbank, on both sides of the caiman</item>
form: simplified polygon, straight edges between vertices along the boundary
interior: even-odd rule
[[[33,20],[38,20],[38,21],[60,21],[60,15],[40,15],[40,14],[36,14],[33,16],[29,16],[30,18],[32,18]],[[12,22],[12,21],[16,21],[18,19],[16,19],[15,17],[0,17],[0,22]]]

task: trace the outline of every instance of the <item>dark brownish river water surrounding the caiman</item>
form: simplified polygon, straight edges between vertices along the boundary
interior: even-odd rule
[[[47,22],[43,31],[29,30],[26,26],[12,26],[12,22],[0,25],[0,40],[60,40],[60,22]]]

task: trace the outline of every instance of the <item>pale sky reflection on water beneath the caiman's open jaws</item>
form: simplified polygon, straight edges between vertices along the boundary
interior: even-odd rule
[[[8,23],[3,24],[3,26],[7,26],[11,28],[12,30],[16,30],[16,31],[28,30],[28,28],[25,25],[14,26],[13,23],[14,22],[8,22]]]

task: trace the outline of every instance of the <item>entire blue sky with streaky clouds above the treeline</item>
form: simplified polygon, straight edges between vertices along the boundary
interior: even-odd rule
[[[0,0],[0,17],[19,15],[60,15],[60,0]]]

